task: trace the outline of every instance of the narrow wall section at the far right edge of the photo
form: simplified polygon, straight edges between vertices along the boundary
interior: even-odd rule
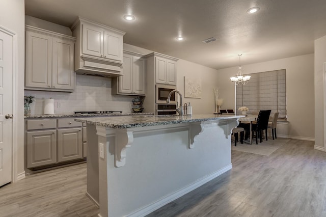
[[[325,73],[326,36],[315,40],[315,148],[326,151],[325,147]]]

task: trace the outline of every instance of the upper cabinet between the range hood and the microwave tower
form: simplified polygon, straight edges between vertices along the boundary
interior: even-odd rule
[[[145,95],[145,61],[142,56],[123,52],[123,76],[113,78],[113,94]]]

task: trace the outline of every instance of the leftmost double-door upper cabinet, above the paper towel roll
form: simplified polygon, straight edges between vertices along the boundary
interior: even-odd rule
[[[25,89],[72,92],[75,38],[25,26]]]

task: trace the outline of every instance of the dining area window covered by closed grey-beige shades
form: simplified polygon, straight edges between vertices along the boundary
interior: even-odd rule
[[[286,118],[286,70],[250,74],[247,85],[236,86],[237,109],[247,106],[250,113],[271,110]]]

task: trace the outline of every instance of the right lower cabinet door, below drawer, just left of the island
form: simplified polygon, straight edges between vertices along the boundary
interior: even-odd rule
[[[58,162],[82,157],[82,128],[58,129]]]

